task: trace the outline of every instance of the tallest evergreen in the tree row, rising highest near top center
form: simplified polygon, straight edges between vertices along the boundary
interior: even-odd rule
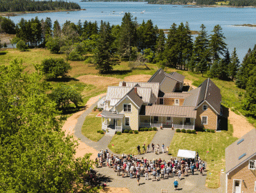
[[[136,46],[136,38],[136,23],[134,23],[131,13],[126,12],[122,17],[118,46],[118,52],[122,57],[131,59],[131,48]]]

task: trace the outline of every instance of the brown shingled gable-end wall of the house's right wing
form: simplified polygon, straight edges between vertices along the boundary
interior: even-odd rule
[[[210,105],[208,105],[207,110],[203,110],[203,105],[208,105],[208,103],[203,102],[202,105],[196,110],[196,128],[205,128],[210,130],[217,129],[217,113],[212,110]],[[202,124],[202,116],[208,116],[207,125]]]

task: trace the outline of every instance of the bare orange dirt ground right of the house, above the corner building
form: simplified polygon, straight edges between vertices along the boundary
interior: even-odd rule
[[[230,121],[230,124],[233,125],[233,136],[240,138],[244,134],[248,133],[250,130],[253,130],[253,125],[250,125],[250,123],[247,121],[246,117],[235,114],[235,112],[232,112],[230,109],[228,120]]]

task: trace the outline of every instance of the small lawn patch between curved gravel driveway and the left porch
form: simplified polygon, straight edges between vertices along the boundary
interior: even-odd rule
[[[101,128],[101,118],[95,117],[99,112],[92,111],[84,120],[82,125],[82,134],[92,141],[99,141],[102,139],[104,134],[100,134],[97,131],[102,130]]]

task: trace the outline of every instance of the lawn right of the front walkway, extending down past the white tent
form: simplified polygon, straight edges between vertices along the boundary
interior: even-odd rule
[[[199,152],[203,161],[207,162],[206,186],[220,186],[220,172],[225,169],[225,148],[237,140],[228,132],[199,132],[198,134],[175,133],[170,144],[170,154],[177,156],[178,150]],[[209,150],[209,153],[206,152]]]

